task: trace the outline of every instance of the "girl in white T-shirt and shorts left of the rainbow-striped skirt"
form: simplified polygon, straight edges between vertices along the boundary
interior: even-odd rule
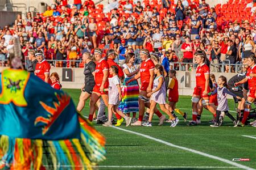
[[[104,91],[109,91],[109,105],[108,105],[108,114],[109,114],[109,120],[103,124],[103,126],[112,126],[112,115],[113,112],[118,112],[118,104],[122,100],[121,97],[121,82],[118,78],[118,67],[117,66],[111,66],[109,69],[109,73],[112,76],[112,78],[109,78],[109,88],[104,89]],[[126,126],[129,126],[131,122],[131,117],[125,116],[125,114],[121,113],[126,121]]]

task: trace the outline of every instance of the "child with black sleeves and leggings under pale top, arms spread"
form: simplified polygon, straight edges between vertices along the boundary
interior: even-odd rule
[[[228,116],[234,124],[234,127],[237,126],[236,119],[229,113],[229,106],[228,106],[228,99],[226,99],[226,95],[232,95],[233,97],[237,97],[237,99],[241,99],[241,97],[233,94],[232,92],[228,91],[227,87],[227,81],[226,77],[221,75],[218,78],[218,87],[213,91],[210,92],[209,95],[214,95],[217,93],[217,100],[218,100],[218,107],[216,110],[216,122],[214,125],[210,125],[210,127],[220,127],[222,125],[222,122],[220,120],[223,120],[223,118],[220,117],[221,112],[224,112],[226,116]]]

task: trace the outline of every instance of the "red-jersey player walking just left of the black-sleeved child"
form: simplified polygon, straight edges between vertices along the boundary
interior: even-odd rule
[[[195,53],[195,61],[198,66],[196,68],[196,87],[194,88],[192,96],[192,121],[189,123],[189,125],[197,125],[197,104],[199,103],[200,99],[202,99],[204,108],[208,109],[208,111],[210,111],[213,116],[216,117],[214,108],[209,105],[208,93],[210,92],[210,69],[207,65],[205,65],[205,59],[206,56],[204,53]]]

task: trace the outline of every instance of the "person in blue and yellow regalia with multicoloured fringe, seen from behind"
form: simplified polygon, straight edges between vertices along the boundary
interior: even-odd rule
[[[12,56],[0,75],[0,169],[93,169],[105,159],[105,138],[68,94]]]

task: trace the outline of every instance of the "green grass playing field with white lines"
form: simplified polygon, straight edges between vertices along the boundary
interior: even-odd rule
[[[78,103],[80,90],[64,90]],[[188,113],[192,118],[191,96],[180,96],[177,108]],[[89,101],[88,101],[89,102]],[[82,111],[88,116],[89,103]],[[230,111],[234,103],[229,100]],[[236,113],[231,112],[233,116]],[[212,114],[203,112],[199,126],[189,127],[179,116],[180,122],[175,128],[164,123],[158,126],[158,117],[154,116],[152,128],[103,127],[95,128],[106,137],[106,160],[99,165],[100,169],[249,169],[256,168],[256,129],[233,128],[232,122],[225,117],[220,128],[210,128]],[[94,122],[95,123],[95,122]],[[123,131],[128,130],[128,131]],[[134,134],[136,132],[138,134]],[[147,136],[142,136],[147,135]],[[243,137],[242,135],[251,136]],[[150,138],[150,137],[152,138]],[[155,140],[156,139],[156,140]],[[160,140],[159,140],[160,139]],[[185,148],[183,148],[185,147]],[[192,150],[189,150],[192,149]],[[197,154],[196,151],[201,154]],[[203,155],[202,155],[203,153]],[[206,156],[205,156],[206,154]],[[209,158],[210,155],[210,158]],[[213,159],[216,156],[217,159]],[[233,158],[249,158],[248,162],[232,162]],[[225,159],[225,160],[220,160]],[[233,164],[235,163],[235,165]],[[241,167],[245,165],[246,167]]]

